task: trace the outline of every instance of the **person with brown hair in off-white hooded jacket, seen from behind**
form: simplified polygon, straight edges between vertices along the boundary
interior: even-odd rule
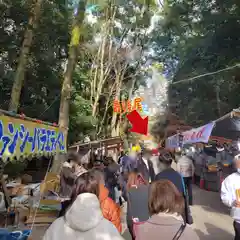
[[[123,240],[116,227],[104,218],[98,200],[99,183],[86,172],[76,180],[72,202],[56,219],[43,240]]]

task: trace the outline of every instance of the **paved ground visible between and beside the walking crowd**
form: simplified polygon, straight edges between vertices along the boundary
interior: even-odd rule
[[[194,206],[191,207],[194,224],[192,227],[196,230],[201,240],[232,240],[233,227],[229,211],[225,208],[219,197],[219,193],[208,192],[193,188]],[[130,235],[126,225],[126,206],[123,207],[123,237],[130,240]],[[41,240],[44,234],[44,228],[34,228],[33,240]]]

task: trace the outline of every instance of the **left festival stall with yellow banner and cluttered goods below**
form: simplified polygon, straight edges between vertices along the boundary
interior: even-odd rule
[[[0,231],[0,239],[27,239],[33,223],[49,224],[56,219],[60,206],[56,193],[59,178],[48,171],[53,156],[65,151],[66,139],[56,124],[0,110],[0,214],[5,221],[0,223],[5,227]],[[33,183],[33,176],[25,174],[24,178],[20,172],[16,172],[17,177],[5,175],[8,165],[14,169],[17,163],[27,165],[30,160],[43,158],[50,161],[42,182]],[[36,169],[35,173],[38,171]],[[9,200],[8,206],[4,197]]]

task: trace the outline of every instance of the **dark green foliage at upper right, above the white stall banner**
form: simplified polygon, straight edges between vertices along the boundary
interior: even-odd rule
[[[239,107],[239,67],[187,80],[239,63],[239,2],[167,1],[161,14],[161,34],[153,35],[161,54],[155,59],[173,78],[171,111],[199,126]]]

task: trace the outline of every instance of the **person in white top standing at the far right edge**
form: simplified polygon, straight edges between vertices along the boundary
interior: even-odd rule
[[[236,172],[232,173],[222,183],[222,202],[231,208],[231,216],[234,220],[235,240],[240,239],[240,154],[234,157]]]

